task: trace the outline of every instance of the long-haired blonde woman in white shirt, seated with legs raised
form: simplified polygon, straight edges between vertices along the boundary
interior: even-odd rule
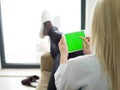
[[[54,47],[53,43],[56,45],[56,49],[53,48],[55,50],[51,49],[51,55],[55,52],[53,56],[56,69],[52,75],[55,76],[57,90],[119,90],[119,0],[99,0],[96,4],[92,24],[92,46],[95,54],[77,56],[68,60],[69,54],[62,34],[59,34],[58,29],[53,27],[49,19],[45,20],[43,25],[43,35],[50,36],[51,48]],[[84,40],[88,42],[86,38]],[[57,48],[58,43],[59,48]],[[89,44],[84,46],[84,50],[86,49],[90,51]],[[48,90],[55,89],[48,88]]]

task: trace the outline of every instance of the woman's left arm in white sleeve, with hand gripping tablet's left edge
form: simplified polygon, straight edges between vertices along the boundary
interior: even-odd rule
[[[57,89],[59,90],[59,87],[61,86],[61,80],[63,77],[63,73],[67,67],[67,63],[68,63],[68,49],[64,40],[64,37],[61,38],[61,40],[59,41],[59,50],[60,50],[60,65],[57,69],[57,71],[55,72],[55,85],[57,87]]]

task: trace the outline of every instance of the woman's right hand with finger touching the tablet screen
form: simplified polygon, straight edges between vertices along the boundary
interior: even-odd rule
[[[83,42],[83,53],[86,54],[91,54],[91,48],[90,48],[90,37],[80,37],[84,40]]]

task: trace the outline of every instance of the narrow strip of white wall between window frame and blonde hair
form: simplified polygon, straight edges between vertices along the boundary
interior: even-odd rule
[[[92,17],[97,0],[86,0],[86,36],[91,34]]]

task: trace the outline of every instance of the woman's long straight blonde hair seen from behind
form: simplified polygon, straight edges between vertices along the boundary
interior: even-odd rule
[[[110,90],[120,89],[120,0],[99,0],[92,23],[92,45],[109,79]]]

